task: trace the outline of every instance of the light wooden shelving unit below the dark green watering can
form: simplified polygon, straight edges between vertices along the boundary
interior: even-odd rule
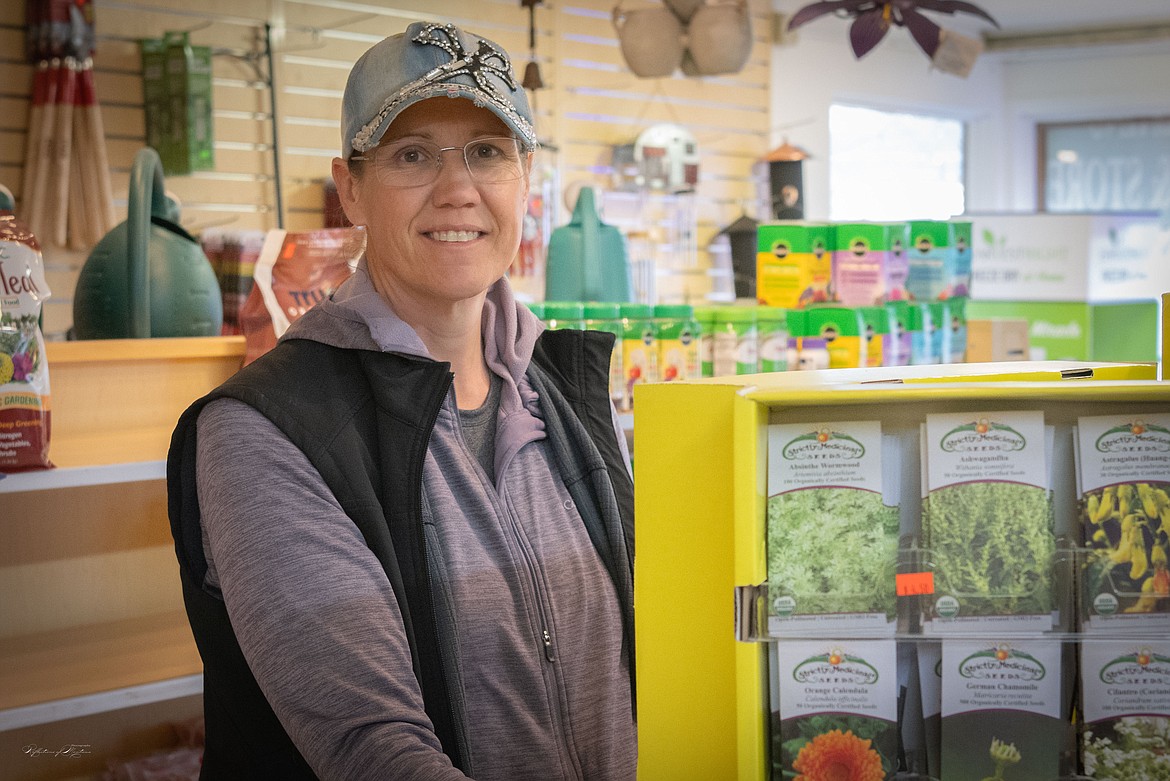
[[[58,732],[132,754],[92,724],[70,735],[54,723],[201,692],[165,458],[179,414],[243,350],[242,337],[47,344],[56,469],[0,477],[4,756]]]

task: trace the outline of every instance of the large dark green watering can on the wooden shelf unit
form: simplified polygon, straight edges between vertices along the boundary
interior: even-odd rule
[[[144,147],[130,170],[126,221],[97,242],[77,277],[78,339],[219,336],[223,302],[215,272],[178,219],[158,152]]]

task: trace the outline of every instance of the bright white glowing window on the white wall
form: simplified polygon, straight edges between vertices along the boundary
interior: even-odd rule
[[[828,216],[945,220],[964,210],[963,123],[834,104]]]

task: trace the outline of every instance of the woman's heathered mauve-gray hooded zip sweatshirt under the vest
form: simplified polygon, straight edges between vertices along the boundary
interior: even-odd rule
[[[443,669],[470,777],[633,779],[618,599],[525,375],[542,329],[505,281],[491,288],[494,481],[463,436],[461,417],[475,413],[460,413],[454,388],[431,437],[424,530]],[[364,265],[284,338],[433,360]],[[304,454],[254,408],[221,399],[199,416],[197,469],[205,588],[222,596],[257,683],[317,775],[467,777],[424,711],[381,566]]]

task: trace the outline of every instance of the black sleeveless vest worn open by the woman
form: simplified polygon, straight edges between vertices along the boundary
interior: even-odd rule
[[[629,561],[612,561],[612,548],[599,544],[604,530],[589,531],[614,573],[632,566],[633,484],[613,436],[607,389],[612,340],[605,333],[548,331],[537,341],[532,362],[562,393],[605,461]],[[207,561],[195,488],[195,421],[204,406],[221,398],[243,401],[271,420],[305,454],[358,526],[401,607],[427,716],[443,751],[463,769],[431,609],[421,525],[424,457],[452,376],[447,364],[288,340],[179,419],[167,457],[167,504],[184,602],[204,661],[207,742],[201,777],[316,777],[260,691],[222,600],[202,589]],[[622,604],[622,614],[632,651],[632,606]]]

